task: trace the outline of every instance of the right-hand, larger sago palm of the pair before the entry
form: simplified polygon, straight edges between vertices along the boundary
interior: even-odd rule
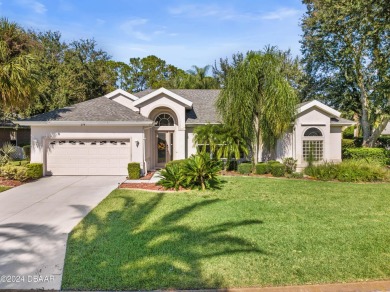
[[[217,175],[221,168],[221,161],[211,159],[208,153],[199,153],[187,159],[182,171],[187,186],[204,191],[220,184]]]

